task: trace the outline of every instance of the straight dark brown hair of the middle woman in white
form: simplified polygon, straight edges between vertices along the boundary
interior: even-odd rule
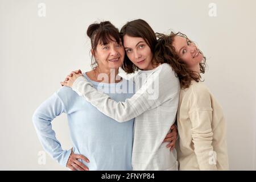
[[[123,41],[123,36],[125,36],[125,35],[143,38],[145,40],[145,42],[147,43],[147,45],[150,47],[151,52],[154,57],[154,49],[155,49],[155,45],[157,43],[156,35],[155,35],[155,32],[152,30],[152,28],[146,21],[144,21],[143,19],[136,19],[136,20],[127,22],[121,28],[120,33],[122,35],[122,41]],[[152,59],[152,60],[154,60],[154,59]],[[125,60],[123,61],[122,69],[126,73],[134,73],[135,71],[138,71],[139,68],[135,64],[133,64],[133,62],[131,62],[131,60],[125,54]]]

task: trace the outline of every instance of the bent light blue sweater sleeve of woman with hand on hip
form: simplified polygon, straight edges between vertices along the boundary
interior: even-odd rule
[[[66,167],[71,150],[63,150],[52,129],[52,120],[65,111],[57,93],[44,101],[32,116],[36,133],[44,150],[61,166]]]

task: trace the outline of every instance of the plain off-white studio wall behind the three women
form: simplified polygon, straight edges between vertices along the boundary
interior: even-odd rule
[[[156,32],[184,32],[207,56],[207,84],[224,109],[230,169],[255,170],[256,25],[254,0],[0,0],[0,169],[67,170],[45,155],[35,109],[69,72],[90,69],[86,29],[144,19]],[[53,121],[71,147],[65,114]]]

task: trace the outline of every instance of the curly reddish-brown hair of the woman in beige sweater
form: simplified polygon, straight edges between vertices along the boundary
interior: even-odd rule
[[[188,88],[192,80],[195,80],[196,82],[201,81],[200,74],[195,71],[191,71],[191,69],[188,68],[187,64],[185,64],[184,61],[180,59],[179,55],[177,55],[173,46],[175,36],[182,36],[189,40],[188,37],[181,32],[176,34],[171,32],[170,35],[156,33],[156,36],[158,38],[158,44],[156,44],[155,47],[155,59],[161,64],[168,63],[171,65],[172,69],[176,73],[176,76],[180,80],[181,88]],[[192,41],[189,40],[189,42]],[[203,55],[203,52],[200,50],[199,52]],[[200,63],[200,73],[205,72],[205,60],[206,59],[204,57]]]

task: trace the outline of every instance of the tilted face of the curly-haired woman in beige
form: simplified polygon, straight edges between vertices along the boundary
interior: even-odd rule
[[[172,46],[174,46],[180,59],[191,69],[198,66],[201,60],[203,60],[203,55],[199,52],[196,45],[182,36],[175,36]]]

